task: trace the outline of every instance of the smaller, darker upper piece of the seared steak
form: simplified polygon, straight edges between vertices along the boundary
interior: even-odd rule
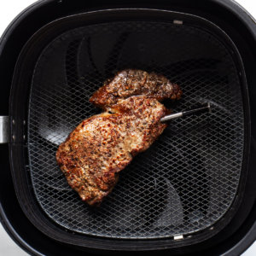
[[[140,95],[158,101],[166,98],[179,100],[183,92],[177,84],[173,84],[163,75],[125,69],[117,73],[112,79],[108,79],[91,96],[90,102],[96,107],[105,109],[107,106],[116,104],[120,98]]]

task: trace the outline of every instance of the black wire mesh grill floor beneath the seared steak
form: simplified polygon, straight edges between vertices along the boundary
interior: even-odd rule
[[[165,75],[183,90],[173,113],[212,102],[212,113],[173,120],[120,172],[100,207],[86,206],[67,184],[55,152],[83,119],[88,101],[123,68]],[[28,117],[32,185],[50,218],[94,236],[159,238],[204,230],[236,195],[243,154],[243,108],[236,66],[200,28],[127,21],[86,26],[51,42],[34,70]]]

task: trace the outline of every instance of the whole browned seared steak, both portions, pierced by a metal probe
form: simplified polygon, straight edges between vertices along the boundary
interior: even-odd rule
[[[139,70],[122,71],[96,91],[90,102],[106,112],[85,119],[56,153],[67,182],[83,201],[102,202],[119,172],[166,128],[160,119],[169,111],[158,100],[181,95],[177,84]]]

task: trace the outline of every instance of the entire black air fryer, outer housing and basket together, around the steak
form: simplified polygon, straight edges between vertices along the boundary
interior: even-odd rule
[[[0,44],[9,236],[32,255],[240,255],[256,237],[255,57],[254,20],[230,0],[34,3]],[[182,99],[164,102],[173,113],[212,112],[172,120],[88,207],[55,152],[124,68],[179,84]]]

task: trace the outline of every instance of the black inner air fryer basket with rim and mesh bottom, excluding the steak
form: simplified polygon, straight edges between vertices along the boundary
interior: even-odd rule
[[[98,236],[103,247],[112,239],[126,248],[135,238],[166,247],[203,241],[235,214],[247,174],[249,109],[240,55],[224,32],[192,15],[105,13],[56,20],[20,55],[11,107],[11,119],[19,121],[11,127],[10,150],[21,207],[48,236],[86,247],[96,247],[87,241]],[[91,18],[99,15],[97,22]],[[55,151],[76,125],[98,113],[90,96],[123,68],[154,71],[179,84],[182,99],[165,102],[173,112],[211,102],[212,113],[172,121],[120,173],[102,205],[91,208],[68,187]],[[178,245],[163,239],[177,235],[186,238]]]

